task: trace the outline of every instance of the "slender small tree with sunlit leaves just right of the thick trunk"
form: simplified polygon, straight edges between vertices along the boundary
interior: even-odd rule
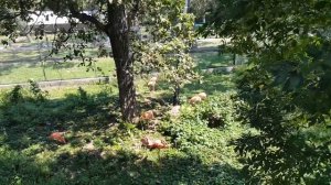
[[[137,42],[137,72],[161,73],[173,91],[173,105],[179,105],[180,88],[197,77],[189,50],[194,43],[194,17],[182,13],[183,1],[169,1],[148,11],[146,32],[151,36]]]

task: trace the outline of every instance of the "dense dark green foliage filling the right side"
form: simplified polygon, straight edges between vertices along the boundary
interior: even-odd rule
[[[247,54],[239,73],[241,120],[259,133],[238,140],[250,183],[328,184],[330,1],[220,1],[213,30]]]

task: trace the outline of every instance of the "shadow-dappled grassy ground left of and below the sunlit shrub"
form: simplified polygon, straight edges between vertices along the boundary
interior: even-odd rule
[[[205,164],[173,149],[160,155],[127,149],[118,130],[111,131],[118,121],[109,112],[118,112],[117,101],[108,92],[78,90],[2,109],[0,184],[242,184],[241,172],[229,164]],[[68,143],[50,141],[52,131],[68,131]],[[92,140],[95,148],[84,149]]]

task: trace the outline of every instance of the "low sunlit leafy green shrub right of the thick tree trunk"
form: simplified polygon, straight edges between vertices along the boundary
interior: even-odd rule
[[[217,151],[215,153],[220,157],[226,153],[234,154],[227,143],[238,138],[243,129],[235,122],[234,102],[231,100],[233,95],[226,92],[210,97],[193,108],[183,106],[181,117],[163,123],[161,131],[171,137],[174,145],[183,151],[200,153],[206,157],[206,151]]]

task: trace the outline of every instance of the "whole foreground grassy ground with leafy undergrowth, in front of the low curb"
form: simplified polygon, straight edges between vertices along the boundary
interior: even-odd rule
[[[163,112],[153,129],[119,121],[115,84],[50,88],[44,101],[22,90],[17,104],[2,90],[0,184],[244,184],[231,143],[247,129],[234,118],[231,78],[209,75],[186,86],[182,96],[205,90],[209,99],[196,107],[183,100],[179,118],[166,116],[170,107],[150,107]],[[143,105],[150,92],[139,89]],[[218,127],[209,124],[210,113],[222,118],[212,117]],[[64,131],[67,143],[47,139],[53,131]],[[164,138],[170,148],[148,150],[145,135]]]

